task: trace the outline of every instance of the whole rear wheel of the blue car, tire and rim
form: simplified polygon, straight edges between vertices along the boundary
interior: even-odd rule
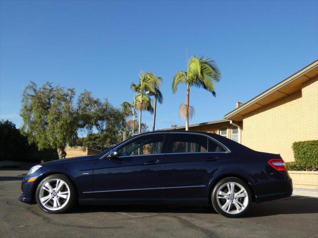
[[[243,216],[252,202],[249,186],[235,177],[221,179],[211,195],[214,209],[229,218]]]

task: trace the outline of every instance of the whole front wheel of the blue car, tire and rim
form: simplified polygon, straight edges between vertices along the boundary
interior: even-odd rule
[[[70,179],[64,175],[50,175],[38,185],[35,194],[40,208],[48,213],[63,213],[76,202],[76,192]]]

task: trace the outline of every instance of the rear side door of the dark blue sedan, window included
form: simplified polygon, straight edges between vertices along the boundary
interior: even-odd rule
[[[209,181],[228,167],[230,153],[200,133],[171,132],[162,163],[163,199],[207,199]]]

